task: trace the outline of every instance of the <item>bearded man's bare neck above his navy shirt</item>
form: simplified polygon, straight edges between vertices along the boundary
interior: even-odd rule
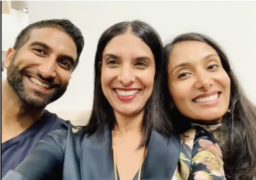
[[[22,103],[9,83],[2,81],[2,142],[29,128],[43,111],[43,108],[28,107]]]

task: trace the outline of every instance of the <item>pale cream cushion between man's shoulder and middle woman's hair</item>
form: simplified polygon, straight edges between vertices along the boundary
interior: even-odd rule
[[[51,111],[63,120],[70,120],[74,126],[85,126],[91,116],[90,110],[83,111]]]

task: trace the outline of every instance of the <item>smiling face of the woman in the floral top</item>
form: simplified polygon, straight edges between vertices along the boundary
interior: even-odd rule
[[[203,42],[180,42],[169,56],[169,91],[177,109],[192,120],[220,120],[228,110],[230,79],[217,52]],[[215,101],[195,102],[218,94]]]

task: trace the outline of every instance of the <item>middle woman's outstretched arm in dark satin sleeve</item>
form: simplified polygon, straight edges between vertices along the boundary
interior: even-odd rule
[[[62,166],[67,131],[57,130],[46,135],[32,152],[2,180],[55,180],[62,179]]]

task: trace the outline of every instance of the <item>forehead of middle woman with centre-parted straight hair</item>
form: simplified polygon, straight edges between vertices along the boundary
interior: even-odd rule
[[[130,32],[112,38],[103,51],[103,54],[107,53],[120,56],[127,54],[132,54],[134,56],[153,56],[151,48],[149,48],[143,40]]]

